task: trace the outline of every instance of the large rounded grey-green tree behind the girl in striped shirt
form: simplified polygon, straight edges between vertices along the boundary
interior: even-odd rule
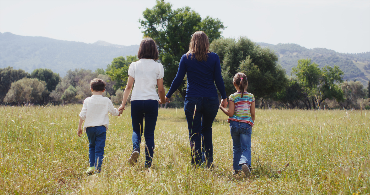
[[[232,80],[237,72],[246,74],[248,92],[261,99],[261,108],[266,98],[282,91],[288,82],[277,55],[246,37],[219,38],[211,43],[211,51],[220,57],[226,95],[235,93]]]

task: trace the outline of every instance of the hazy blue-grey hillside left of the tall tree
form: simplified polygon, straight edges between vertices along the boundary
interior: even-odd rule
[[[113,58],[136,55],[138,49],[138,45],[120,46],[105,41],[87,44],[0,33],[0,68],[12,66],[28,73],[36,68],[49,68],[63,76],[75,68],[105,69]]]

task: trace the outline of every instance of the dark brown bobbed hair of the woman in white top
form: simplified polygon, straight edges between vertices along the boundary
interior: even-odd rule
[[[150,37],[145,37],[139,47],[138,58],[158,60],[158,48],[155,41]]]

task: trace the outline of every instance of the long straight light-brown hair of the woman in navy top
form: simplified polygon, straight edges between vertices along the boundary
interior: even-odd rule
[[[203,31],[196,31],[191,37],[189,51],[186,53],[186,58],[191,54],[191,58],[195,57],[198,61],[207,61],[207,52],[211,52],[209,49],[208,36]]]

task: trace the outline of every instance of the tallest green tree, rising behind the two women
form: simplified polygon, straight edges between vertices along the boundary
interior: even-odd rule
[[[199,13],[190,7],[171,9],[172,4],[164,0],[157,0],[152,9],[143,12],[141,23],[144,36],[153,38],[159,50],[159,60],[164,67],[164,84],[171,86],[174,80],[179,60],[183,54],[188,52],[191,36],[196,31],[203,31],[208,35],[209,41],[221,36],[225,27],[219,19],[207,16],[202,19]],[[178,88],[182,97],[185,98],[185,83]]]

